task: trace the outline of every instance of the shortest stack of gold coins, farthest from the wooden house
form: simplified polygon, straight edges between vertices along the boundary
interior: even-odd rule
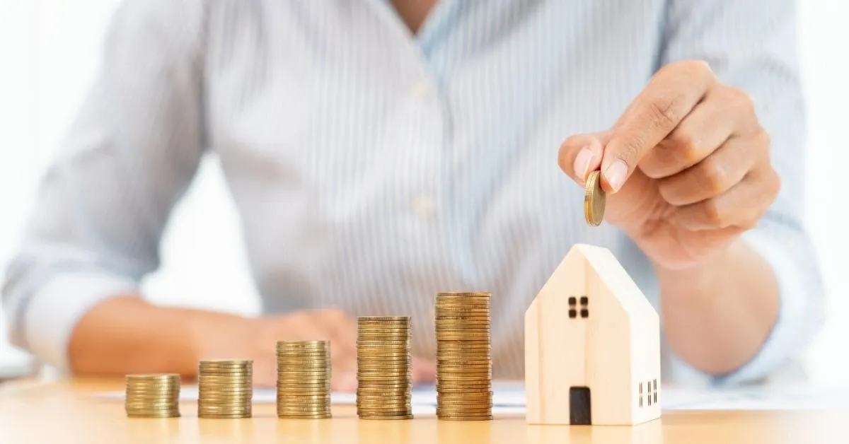
[[[127,374],[127,418],[180,416],[179,374]]]

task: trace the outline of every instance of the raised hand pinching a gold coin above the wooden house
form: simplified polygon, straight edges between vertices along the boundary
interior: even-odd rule
[[[612,128],[568,138],[558,163],[581,185],[602,171],[604,220],[666,268],[755,227],[780,187],[752,99],[700,61],[666,65]]]

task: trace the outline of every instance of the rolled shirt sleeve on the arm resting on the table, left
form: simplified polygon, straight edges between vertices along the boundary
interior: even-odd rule
[[[117,7],[98,77],[43,177],[3,307],[10,340],[46,365],[66,370],[79,319],[159,267],[166,219],[203,153],[200,4]]]

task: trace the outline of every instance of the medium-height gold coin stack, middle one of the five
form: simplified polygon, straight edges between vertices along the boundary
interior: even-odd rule
[[[328,340],[278,341],[278,418],[330,418],[330,374]]]

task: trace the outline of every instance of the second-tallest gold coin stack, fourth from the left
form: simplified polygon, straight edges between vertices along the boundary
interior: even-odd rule
[[[357,415],[413,419],[410,317],[357,318]]]

